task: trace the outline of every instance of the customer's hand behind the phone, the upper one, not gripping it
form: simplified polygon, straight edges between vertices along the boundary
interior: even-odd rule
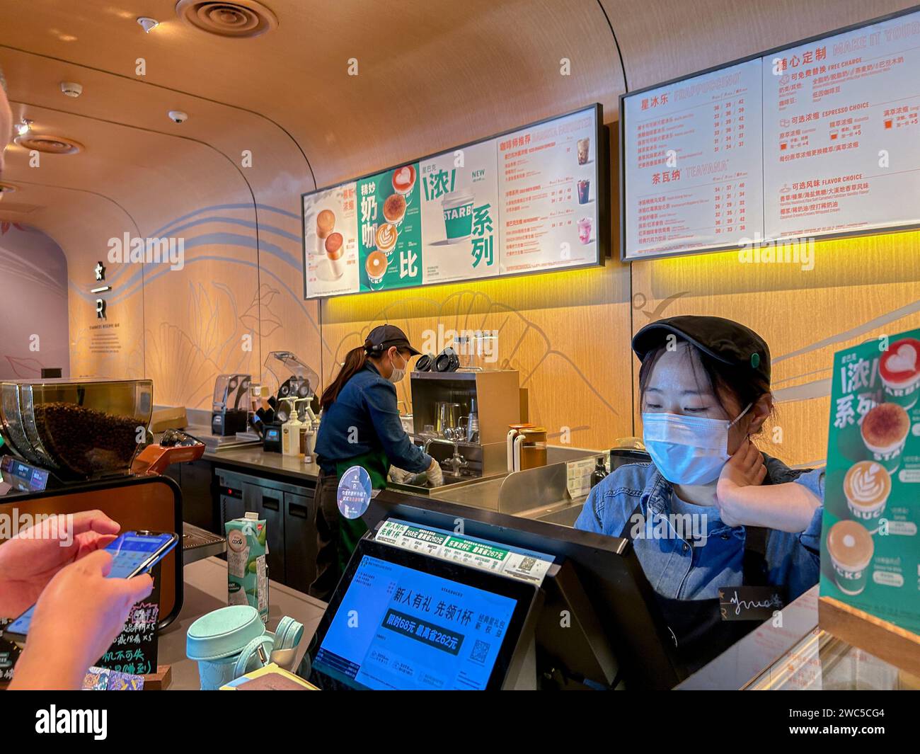
[[[120,528],[102,511],[83,511],[50,516],[0,544],[0,617],[29,609],[54,574],[109,545]]]

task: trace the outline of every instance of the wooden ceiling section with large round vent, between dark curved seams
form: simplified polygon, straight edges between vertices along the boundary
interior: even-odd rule
[[[609,118],[623,89],[596,0],[266,5],[278,28],[233,40],[178,20],[173,0],[135,7],[32,0],[28,13],[7,4],[0,10],[0,44],[8,49],[0,49],[0,63],[6,67],[15,50],[28,51],[55,59],[58,75],[80,83],[86,68],[108,73],[113,86],[117,78],[141,81],[144,98],[156,104],[148,126],[157,129],[170,125],[166,111],[177,108],[172,103],[181,92],[249,110],[269,119],[267,126],[280,124],[265,130],[273,142],[282,141],[282,128],[292,134],[319,185],[587,102],[601,101]],[[162,23],[145,34],[134,20],[142,15]],[[146,74],[137,76],[142,57]],[[563,58],[569,75],[560,73]],[[357,75],[350,75],[352,60]],[[28,75],[23,84],[15,72],[7,79],[11,89],[35,91]],[[35,82],[48,96],[66,99],[51,83]],[[75,105],[92,94],[85,85]],[[202,104],[188,106],[182,129]],[[234,122],[237,113],[227,117]]]

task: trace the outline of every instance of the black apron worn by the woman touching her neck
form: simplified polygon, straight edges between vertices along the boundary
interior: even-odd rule
[[[637,514],[642,515],[641,503],[627,517],[627,524],[620,532],[620,537],[630,542],[633,539],[630,533],[632,519]],[[745,527],[743,586],[769,586],[765,557],[767,533],[765,528]],[[688,673],[696,672],[760,625],[759,621],[723,621],[718,597],[673,599],[662,597],[658,592],[655,597],[673,633],[677,659]]]

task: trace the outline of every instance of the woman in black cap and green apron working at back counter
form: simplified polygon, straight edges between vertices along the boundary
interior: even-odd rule
[[[395,325],[375,327],[362,346],[345,356],[338,377],[319,400],[323,410],[316,436],[316,581],[310,595],[328,601],[339,576],[367,531],[360,518],[339,513],[336,493],[341,475],[362,466],[374,489],[386,486],[390,465],[426,472],[432,487],[443,484],[440,464],[413,445],[399,420],[395,383],[406,376],[408,360],[420,352]]]

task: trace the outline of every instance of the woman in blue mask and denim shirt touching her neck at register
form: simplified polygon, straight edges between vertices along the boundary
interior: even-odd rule
[[[651,463],[595,486],[575,526],[632,539],[678,658],[691,671],[756,627],[723,621],[719,590],[761,586],[785,604],[818,582],[822,470],[754,447],[773,412],[770,352],[719,317],[672,317],[632,342]]]

